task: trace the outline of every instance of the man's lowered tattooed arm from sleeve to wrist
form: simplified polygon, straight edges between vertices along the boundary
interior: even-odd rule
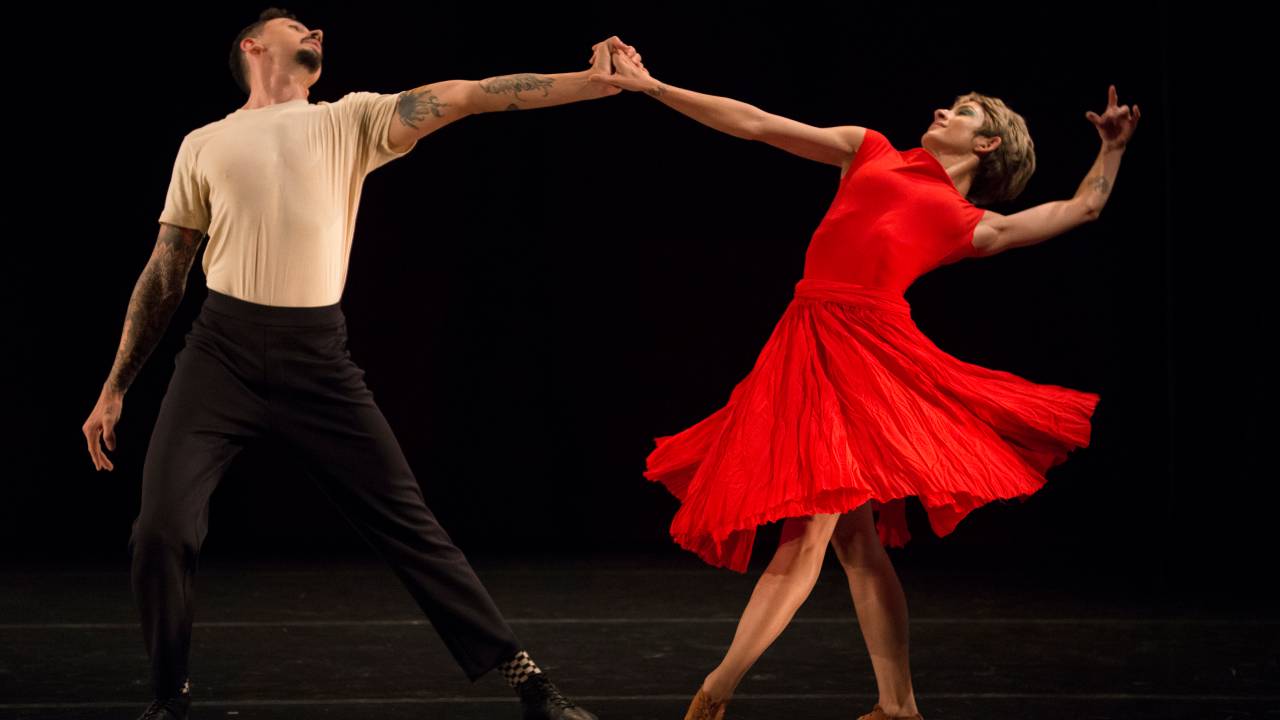
[[[123,393],[133,384],[142,364],[164,337],[187,290],[187,273],[204,237],[205,233],[196,229],[161,224],[151,260],[129,297],[124,333],[108,378],[113,391]]]

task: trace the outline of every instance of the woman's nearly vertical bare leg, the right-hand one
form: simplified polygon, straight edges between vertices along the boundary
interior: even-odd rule
[[[879,706],[887,715],[915,715],[908,660],[906,596],[876,534],[872,506],[840,516],[831,538],[854,596],[854,610],[876,670]]]

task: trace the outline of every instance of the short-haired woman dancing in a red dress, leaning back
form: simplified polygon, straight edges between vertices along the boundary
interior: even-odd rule
[[[938,109],[922,147],[896,150],[874,129],[818,128],[658,82],[640,55],[614,56],[593,79],[643,91],[735,137],[838,165],[831,209],[804,278],[728,405],[657,439],[645,477],[681,500],[671,534],[707,562],[745,571],[758,525],[783,520],[724,660],[686,720],[719,720],[751,665],[818,579],[829,542],[849,577],[879,702],[859,720],[923,720],[908,665],[908,615],[883,546],[908,539],[918,497],[936,534],[975,507],[1024,498],[1068,452],[1087,447],[1100,396],[1036,384],[960,361],[915,327],[902,295],[924,273],[1024,247],[1096,219],[1137,127],[1108,90],[1094,124],[1102,149],[1070,200],[1011,215],[1036,168],[1027,126],[979,94]],[[873,512],[878,515],[873,516]]]

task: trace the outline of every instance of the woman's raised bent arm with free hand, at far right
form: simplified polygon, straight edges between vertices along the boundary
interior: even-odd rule
[[[1120,172],[1120,158],[1142,113],[1137,105],[1132,110],[1128,105],[1116,105],[1116,86],[1112,85],[1102,115],[1088,111],[1085,117],[1097,127],[1102,147],[1075,195],[1012,215],[987,210],[973,234],[973,245],[982,255],[1043,242],[1102,214]]]

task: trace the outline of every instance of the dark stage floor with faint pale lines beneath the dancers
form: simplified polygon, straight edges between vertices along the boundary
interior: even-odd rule
[[[899,561],[920,710],[950,719],[1280,719],[1280,612],[1121,571]],[[472,556],[535,661],[604,720],[684,716],[759,568],[689,555]],[[0,571],[0,717],[128,719],[148,698],[127,559]],[[518,717],[497,674],[466,682],[376,559],[205,559],[196,719]],[[1249,607],[1249,610],[1242,610]],[[874,680],[832,557],[739,689],[731,719],[852,720]]]

